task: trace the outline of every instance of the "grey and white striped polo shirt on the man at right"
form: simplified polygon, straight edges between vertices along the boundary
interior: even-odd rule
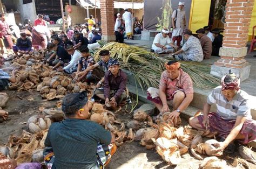
[[[237,116],[252,118],[249,95],[243,90],[238,90],[232,100],[228,101],[221,94],[221,86],[218,86],[207,97],[207,103],[216,104],[217,113],[224,119],[236,119]]]

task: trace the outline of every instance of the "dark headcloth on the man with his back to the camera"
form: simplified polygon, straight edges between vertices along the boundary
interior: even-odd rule
[[[66,95],[62,101],[62,111],[65,115],[73,115],[87,103],[88,97],[86,91],[82,93],[72,93]]]

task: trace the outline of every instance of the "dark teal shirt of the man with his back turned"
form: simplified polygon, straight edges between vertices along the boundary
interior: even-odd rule
[[[111,132],[83,119],[52,123],[45,139],[55,155],[52,168],[90,168],[97,165],[97,144],[110,144]]]

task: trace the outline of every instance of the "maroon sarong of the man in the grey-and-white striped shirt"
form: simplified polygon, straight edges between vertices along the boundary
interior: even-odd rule
[[[203,125],[204,115],[199,115],[197,118],[202,128],[205,129]],[[208,128],[211,132],[218,131],[217,136],[220,138],[226,138],[235,125],[235,119],[224,119],[217,112],[209,112],[208,119],[210,122]],[[256,140],[256,121],[246,119],[240,133],[245,136],[244,140],[239,140],[243,144]]]

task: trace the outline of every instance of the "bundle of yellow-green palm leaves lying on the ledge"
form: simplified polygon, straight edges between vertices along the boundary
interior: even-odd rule
[[[100,44],[105,43],[100,41]],[[170,60],[147,52],[143,47],[116,42],[105,44],[102,50],[109,50],[110,57],[121,62],[121,68],[131,71],[141,88],[158,87],[161,73],[165,70],[164,64]],[[95,60],[100,59],[99,51],[94,54]],[[207,89],[219,85],[219,79],[210,74],[210,65],[192,61],[180,61],[180,63],[183,71],[190,75],[194,87]]]

